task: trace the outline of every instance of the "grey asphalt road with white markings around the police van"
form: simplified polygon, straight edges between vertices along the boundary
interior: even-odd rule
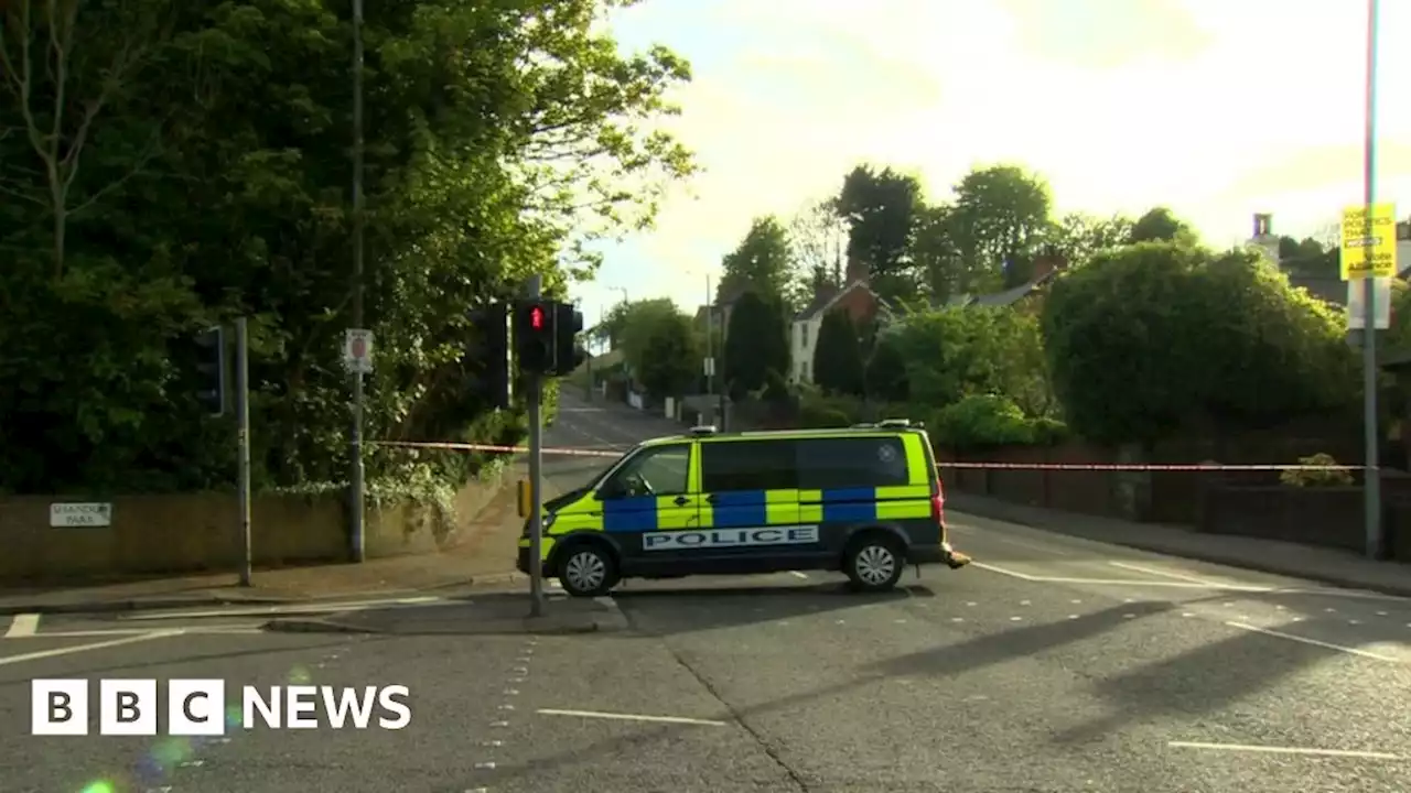
[[[608,447],[672,429],[564,399],[547,439]],[[566,487],[607,461],[547,457],[546,470]],[[1411,789],[1411,603],[951,519],[976,564],[909,573],[904,591],[848,594],[817,573],[631,581],[615,594],[631,629],[614,634],[293,636],[230,612],[45,618],[0,641],[0,717],[14,725],[0,789]],[[433,607],[446,604],[396,605]],[[90,646],[41,655],[79,645]],[[205,745],[37,738],[37,676],[402,683],[413,720]],[[175,759],[157,769],[161,756]]]

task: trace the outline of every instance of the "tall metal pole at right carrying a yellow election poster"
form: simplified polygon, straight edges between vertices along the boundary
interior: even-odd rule
[[[1363,234],[1363,255],[1366,277],[1363,278],[1362,305],[1366,316],[1362,322],[1363,361],[1362,361],[1362,389],[1363,389],[1363,430],[1366,437],[1366,477],[1363,484],[1363,518],[1366,521],[1367,556],[1379,559],[1381,556],[1381,470],[1380,449],[1381,433],[1377,432],[1377,279],[1371,267],[1371,206],[1376,202],[1376,107],[1377,107],[1377,0],[1367,0],[1367,104],[1366,104],[1366,140],[1363,141],[1363,199],[1367,213],[1367,229]]]

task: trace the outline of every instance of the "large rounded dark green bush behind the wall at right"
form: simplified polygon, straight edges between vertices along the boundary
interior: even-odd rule
[[[1098,254],[1043,316],[1068,423],[1099,443],[1342,408],[1356,382],[1343,327],[1257,253],[1181,240]]]

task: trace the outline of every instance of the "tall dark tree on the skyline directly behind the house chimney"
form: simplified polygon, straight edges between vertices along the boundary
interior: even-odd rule
[[[890,168],[858,165],[842,179],[837,207],[848,223],[848,258],[868,265],[873,288],[909,275],[907,253],[920,202],[920,182]]]

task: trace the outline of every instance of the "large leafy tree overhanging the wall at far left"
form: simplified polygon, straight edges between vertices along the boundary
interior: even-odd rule
[[[562,293],[594,265],[583,243],[648,222],[693,171],[669,135],[639,131],[674,110],[665,96],[689,68],[619,52],[598,23],[622,4],[368,4],[370,437],[509,432],[468,389],[467,309],[531,274]],[[260,481],[340,478],[346,6],[18,0],[0,14],[0,130],[14,131],[0,134],[14,199],[0,202],[0,487],[229,481],[229,426],[190,398],[183,340],[237,315]],[[373,476],[412,463],[368,461]]]

